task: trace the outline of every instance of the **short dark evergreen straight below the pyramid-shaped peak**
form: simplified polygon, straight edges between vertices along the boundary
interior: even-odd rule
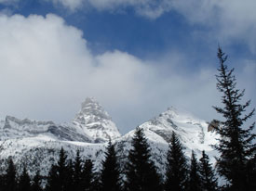
[[[83,191],[94,191],[94,174],[93,174],[93,163],[91,159],[85,161],[82,171],[82,190]],[[96,189],[95,189],[96,190]]]

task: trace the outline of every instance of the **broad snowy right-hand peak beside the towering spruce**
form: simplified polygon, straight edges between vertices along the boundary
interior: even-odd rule
[[[176,133],[182,145],[185,147],[185,154],[190,157],[191,151],[201,156],[201,151],[205,150],[210,156],[217,155],[210,145],[217,144],[217,135],[208,132],[208,123],[196,119],[191,114],[181,112],[176,108],[168,108],[158,117],[144,122],[141,128],[145,132],[153,132],[161,136],[169,143],[172,132]],[[214,159],[211,158],[213,161]]]

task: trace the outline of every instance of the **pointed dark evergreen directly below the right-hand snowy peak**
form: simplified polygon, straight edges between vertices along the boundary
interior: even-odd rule
[[[166,190],[184,190],[187,181],[187,172],[187,160],[183,153],[183,146],[177,135],[173,132],[168,149]]]

